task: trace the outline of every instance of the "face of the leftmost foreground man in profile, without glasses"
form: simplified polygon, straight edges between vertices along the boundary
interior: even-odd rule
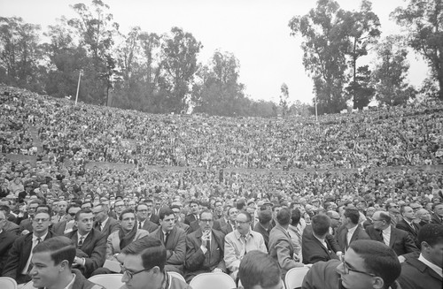
[[[55,285],[58,279],[58,268],[51,259],[51,252],[38,252],[32,255],[31,262],[34,264],[29,275],[36,288],[49,288]]]

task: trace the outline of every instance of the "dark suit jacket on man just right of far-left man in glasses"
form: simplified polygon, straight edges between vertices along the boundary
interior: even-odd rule
[[[68,232],[65,236],[74,241],[74,245],[77,247],[76,256],[85,258],[84,275],[86,278],[89,278],[94,270],[103,266],[106,256],[105,234],[96,229],[90,230],[86,239],[83,240],[82,248],[78,247],[79,240],[77,230]]]

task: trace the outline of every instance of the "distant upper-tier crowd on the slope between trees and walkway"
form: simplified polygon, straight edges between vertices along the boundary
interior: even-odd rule
[[[63,162],[200,168],[361,168],[443,164],[443,105],[303,118],[151,115],[0,87],[3,153]]]

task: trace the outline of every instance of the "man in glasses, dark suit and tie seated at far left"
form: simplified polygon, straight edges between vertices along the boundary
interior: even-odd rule
[[[49,231],[51,215],[48,211],[35,213],[32,219],[32,232],[19,237],[12,244],[8,261],[4,265],[4,277],[10,277],[17,281],[17,284],[27,283],[31,280],[28,273],[32,269],[31,257],[32,249],[42,242],[55,236]]]

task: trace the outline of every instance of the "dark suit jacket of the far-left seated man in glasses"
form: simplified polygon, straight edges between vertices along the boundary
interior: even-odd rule
[[[48,240],[54,236],[54,233],[49,231],[44,240]],[[29,232],[16,239],[9,251],[8,260],[4,264],[3,276],[15,279],[18,284],[31,280],[28,275],[22,275],[21,271],[25,269],[27,259],[29,259],[29,255],[31,254],[32,237],[33,233]]]

